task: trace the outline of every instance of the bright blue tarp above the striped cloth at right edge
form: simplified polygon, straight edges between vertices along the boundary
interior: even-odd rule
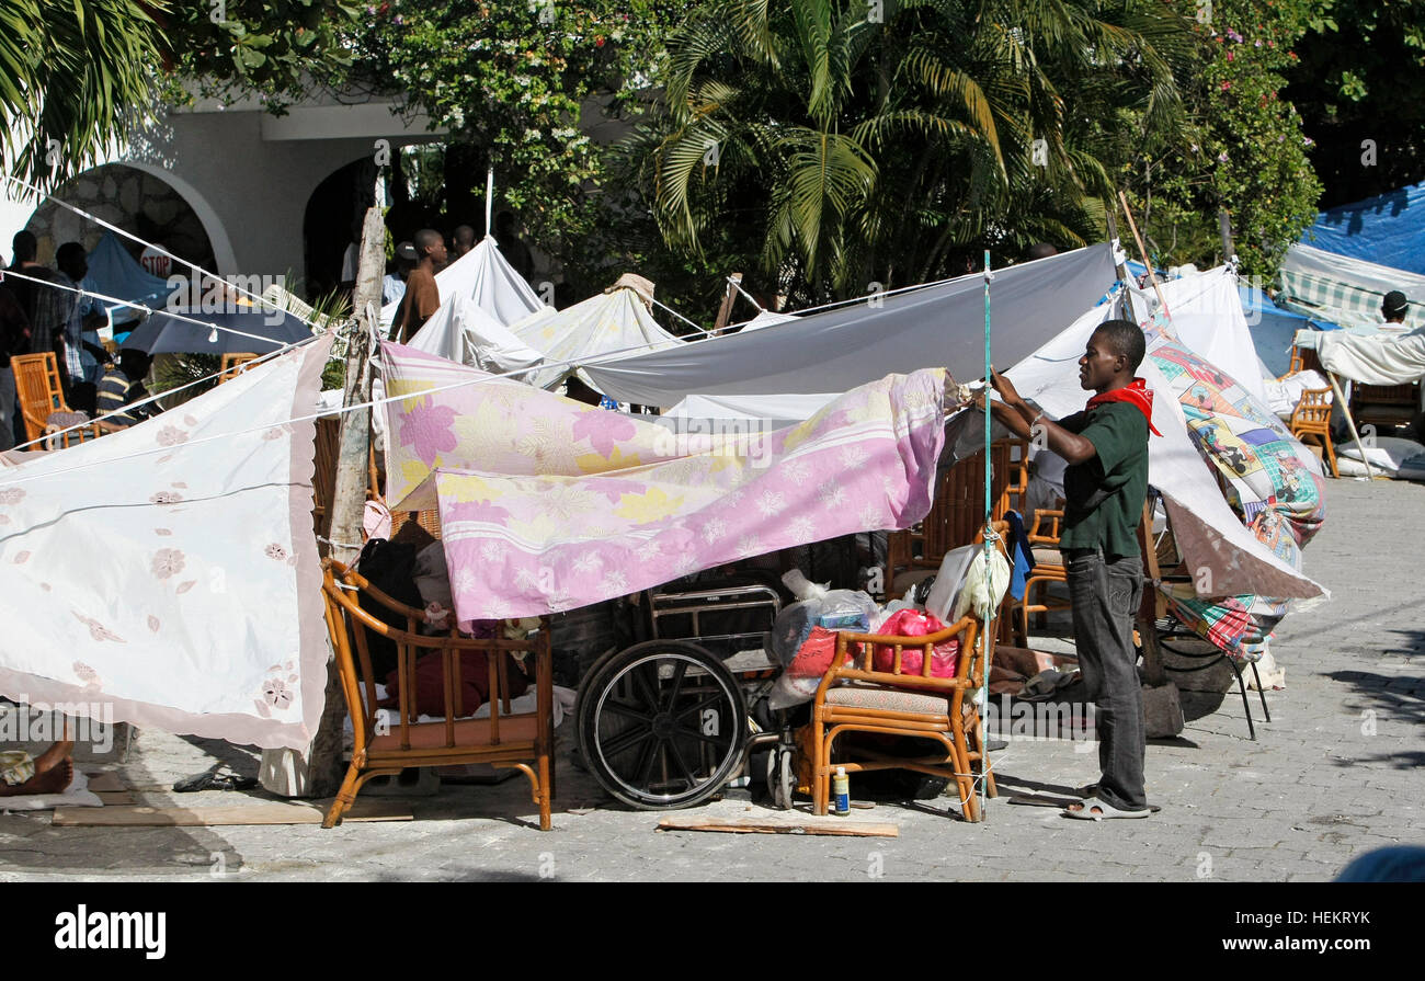
[[[1425,184],[1322,211],[1301,244],[1425,275]]]

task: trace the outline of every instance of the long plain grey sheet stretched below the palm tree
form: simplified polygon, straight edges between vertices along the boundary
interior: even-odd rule
[[[1093,245],[995,272],[998,364],[1013,364],[1087,309],[1114,281],[1109,245]],[[687,395],[845,392],[929,365],[968,371],[985,362],[985,281],[960,277],[878,295],[758,331],[617,355],[584,365],[590,384],[620,402],[678,404]],[[537,344],[534,346],[539,346]],[[979,365],[978,368],[975,365]]]

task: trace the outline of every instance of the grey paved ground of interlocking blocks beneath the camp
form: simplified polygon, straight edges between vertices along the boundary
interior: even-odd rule
[[[1290,616],[1275,643],[1287,687],[1268,693],[1247,739],[1234,694],[1149,749],[1143,821],[1069,821],[1012,794],[1067,793],[1096,773],[1066,741],[1015,741],[996,756],[1002,798],[989,820],[946,816],[958,800],[882,803],[858,817],[895,821],[899,838],[656,831],[660,816],[616,808],[560,763],[554,831],[542,834],[523,779],[447,787],[410,800],[415,821],[217,828],[67,828],[47,814],[0,814],[0,881],[181,880],[1328,880],[1354,856],[1422,843],[1425,613],[1419,543],[1425,488],[1330,482],[1325,529],[1307,570],[1334,593]],[[1255,703],[1255,694],[1253,696]],[[148,730],[125,780],[142,803],[244,803],[242,794],[170,793],[217,759],[255,773],[255,757]],[[258,796],[261,798],[261,796]],[[938,810],[931,810],[931,807]],[[751,808],[751,810],[750,810]],[[761,808],[724,800],[704,813]]]

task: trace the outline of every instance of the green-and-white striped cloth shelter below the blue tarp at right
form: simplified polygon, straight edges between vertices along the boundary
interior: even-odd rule
[[[1381,301],[1399,289],[1411,301],[1404,328],[1384,328]],[[1375,334],[1425,327],[1425,275],[1292,245],[1281,264],[1277,302],[1298,314]]]

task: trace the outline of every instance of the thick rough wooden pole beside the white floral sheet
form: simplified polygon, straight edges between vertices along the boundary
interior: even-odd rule
[[[386,230],[380,208],[366,210],[362,225],[356,289],[352,312],[356,329],[346,344],[346,395],[343,405],[370,399],[372,342],[379,329],[380,271],[385,265]],[[370,408],[342,415],[341,453],[336,461],[336,488],[332,493],[332,558],[349,563],[361,553],[362,513],[366,508],[366,459],[370,453]],[[329,797],[342,780],[342,721],[346,700],[341,693],[336,662],[328,660],[326,704],[316,736],[305,753],[262,750],[262,787],[284,797]]]

